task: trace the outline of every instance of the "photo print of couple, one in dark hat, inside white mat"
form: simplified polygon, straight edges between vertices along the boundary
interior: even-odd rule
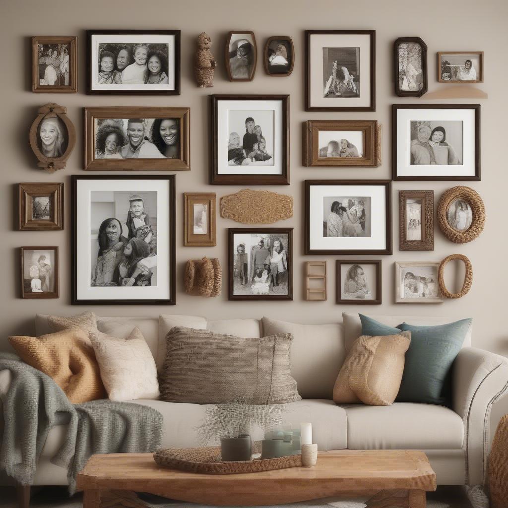
[[[463,163],[461,120],[411,120],[410,164],[460,166]]]

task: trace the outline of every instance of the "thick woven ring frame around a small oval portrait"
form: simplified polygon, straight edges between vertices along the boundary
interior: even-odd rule
[[[471,207],[471,226],[465,231],[457,231],[450,226],[447,218],[448,208],[456,199],[462,199]],[[478,238],[485,225],[485,206],[480,195],[471,187],[457,185],[446,190],[437,205],[437,222],[443,235],[455,243],[467,243]]]

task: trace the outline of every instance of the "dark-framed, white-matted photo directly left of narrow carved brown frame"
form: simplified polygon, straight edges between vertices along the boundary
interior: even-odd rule
[[[305,254],[391,254],[391,217],[391,180],[305,180]]]

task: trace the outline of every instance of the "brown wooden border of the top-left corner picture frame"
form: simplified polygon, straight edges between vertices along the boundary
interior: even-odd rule
[[[69,84],[41,85],[39,77],[39,44],[68,44]],[[76,93],[78,91],[78,38],[76,36],[32,37],[32,91],[36,93]]]

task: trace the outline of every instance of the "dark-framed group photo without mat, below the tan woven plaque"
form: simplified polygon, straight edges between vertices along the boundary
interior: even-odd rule
[[[230,300],[293,300],[293,228],[230,228]]]

